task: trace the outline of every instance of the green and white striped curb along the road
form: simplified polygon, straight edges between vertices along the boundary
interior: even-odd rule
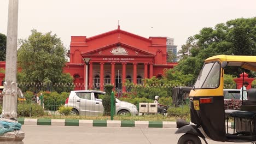
[[[133,127],[133,128],[176,128],[176,122],[161,121],[109,121],[84,119],[18,118],[22,125],[55,125],[75,127]],[[231,127],[231,123],[229,123]]]

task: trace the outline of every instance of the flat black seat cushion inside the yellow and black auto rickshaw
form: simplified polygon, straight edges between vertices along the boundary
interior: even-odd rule
[[[254,113],[249,111],[225,110],[226,117],[253,117]]]

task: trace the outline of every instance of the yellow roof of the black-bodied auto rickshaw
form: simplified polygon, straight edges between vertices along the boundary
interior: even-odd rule
[[[228,62],[229,66],[241,67],[248,70],[256,71],[256,56],[229,56],[218,55],[205,59],[205,62],[220,61]]]

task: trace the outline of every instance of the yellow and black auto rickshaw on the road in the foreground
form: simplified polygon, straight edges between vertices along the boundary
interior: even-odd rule
[[[189,93],[191,122],[177,120],[176,134],[182,135],[178,144],[200,144],[199,137],[220,142],[256,141],[256,88],[248,91],[241,110],[224,110],[224,71],[241,67],[256,71],[256,56],[218,55],[207,58]],[[242,95],[243,97],[243,95]],[[234,118],[234,129],[229,131],[228,117]]]

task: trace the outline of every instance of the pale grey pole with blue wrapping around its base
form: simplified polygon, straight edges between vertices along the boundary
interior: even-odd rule
[[[2,117],[16,120],[17,118],[17,39],[18,39],[18,6],[19,0],[9,0],[8,27],[7,27],[7,50],[5,65],[5,82],[3,89]],[[25,133],[21,130],[16,133],[9,132],[0,136],[3,141],[22,141]]]

